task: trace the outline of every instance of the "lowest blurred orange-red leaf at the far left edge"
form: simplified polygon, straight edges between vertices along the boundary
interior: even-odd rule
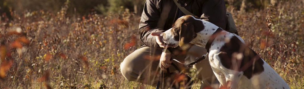
[[[13,60],[10,61],[2,61],[0,66],[0,77],[4,78],[6,76],[6,71],[12,66]]]

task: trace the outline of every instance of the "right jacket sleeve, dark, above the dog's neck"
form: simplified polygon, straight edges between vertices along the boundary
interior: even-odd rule
[[[202,13],[200,19],[209,21],[216,26],[226,28],[226,6],[224,0],[207,0],[202,3]]]

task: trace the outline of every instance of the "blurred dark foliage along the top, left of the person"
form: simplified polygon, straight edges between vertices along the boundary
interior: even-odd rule
[[[17,14],[23,11],[45,10],[59,12],[64,3],[69,3],[67,14],[88,15],[93,13],[107,15],[108,13],[123,13],[126,8],[130,12],[142,11],[144,0],[0,0],[0,14],[9,14],[12,8]],[[134,10],[136,9],[136,10]],[[140,13],[137,13],[140,15]]]

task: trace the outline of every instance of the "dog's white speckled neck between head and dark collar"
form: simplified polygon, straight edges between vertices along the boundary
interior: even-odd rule
[[[203,24],[205,28],[196,33],[196,37],[190,43],[205,48],[209,38],[219,27],[207,21],[203,21]]]

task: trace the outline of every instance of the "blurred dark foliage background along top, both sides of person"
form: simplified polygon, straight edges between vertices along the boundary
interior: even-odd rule
[[[252,12],[266,8],[269,4],[277,5],[286,0],[225,0],[227,7],[236,10]],[[9,10],[21,14],[25,10],[59,12],[64,3],[69,3],[67,14],[88,15],[97,13],[122,13],[125,9],[136,15],[141,15],[145,0],[0,0],[0,13]],[[7,14],[8,15],[8,14]]]

